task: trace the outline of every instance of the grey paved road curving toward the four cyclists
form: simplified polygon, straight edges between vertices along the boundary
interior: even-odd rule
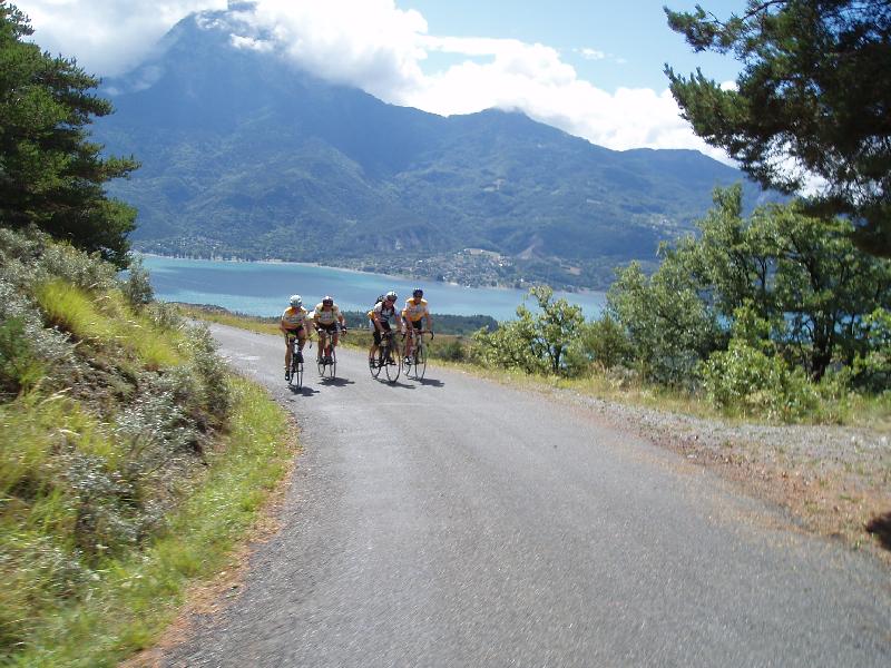
[[[891,666],[891,578],[596,415],[437,367],[292,394],[284,528],[167,666]]]

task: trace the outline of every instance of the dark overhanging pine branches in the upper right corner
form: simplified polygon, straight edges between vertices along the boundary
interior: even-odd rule
[[[726,21],[665,8],[696,50],[733,52],[735,90],[666,65],[694,131],[765,187],[824,183],[809,212],[844,215],[862,248],[891,257],[891,2],[748,0]]]

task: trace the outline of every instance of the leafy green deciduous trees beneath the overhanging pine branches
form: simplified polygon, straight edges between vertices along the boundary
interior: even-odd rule
[[[833,363],[853,367],[870,357],[881,337],[871,325],[878,316],[866,316],[891,307],[891,262],[859,250],[850,222],[813,218],[797,203],[758,208],[748,219],[741,212],[738,187],[716,190],[698,237],[664,247],[649,278],[635,266],[619,274],[608,307],[644,373],[659,382],[689,377],[741,331],[748,347],[764,340],[773,347],[762,352],[775,350],[814,380]],[[758,326],[733,330],[740,313]]]

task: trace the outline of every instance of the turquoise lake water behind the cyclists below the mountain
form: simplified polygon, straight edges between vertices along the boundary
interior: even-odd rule
[[[145,256],[155,295],[166,302],[213,304],[249,315],[281,315],[297,293],[312,307],[330,294],[344,311],[366,311],[381,293],[394,289],[400,303],[414,287],[424,291],[433,313],[516,317],[526,293],[520,289],[461,287],[433,281],[412,281],[346,269],[290,263],[217,262]],[[581,306],[586,317],[600,313],[604,294],[557,293]]]

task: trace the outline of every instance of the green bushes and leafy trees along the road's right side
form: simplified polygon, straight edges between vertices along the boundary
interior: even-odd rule
[[[715,191],[698,235],[662,247],[652,276],[620,271],[601,317],[531,292],[536,308],[481,331],[477,362],[598,376],[702,400],[733,416],[850,422],[891,412],[891,262],[859,250],[852,225],[797,203],[750,217]]]

